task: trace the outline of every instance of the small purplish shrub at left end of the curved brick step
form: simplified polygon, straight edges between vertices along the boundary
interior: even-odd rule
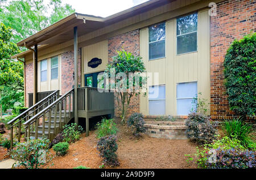
[[[139,136],[139,132],[145,132],[146,128],[143,127],[145,121],[143,119],[143,114],[133,113],[127,121],[127,126],[133,128],[133,134]]]

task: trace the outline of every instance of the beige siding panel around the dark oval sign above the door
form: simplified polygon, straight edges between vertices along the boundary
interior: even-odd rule
[[[88,67],[88,62],[92,58],[102,60],[101,65],[96,68]],[[108,64],[108,40],[97,42],[96,44],[82,48],[82,74],[104,71]],[[84,85],[84,75],[82,75],[82,85]]]

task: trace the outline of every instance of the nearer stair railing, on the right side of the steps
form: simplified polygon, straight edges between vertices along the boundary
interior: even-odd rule
[[[68,100],[68,101],[67,101]],[[68,107],[67,107],[68,105]],[[73,110],[74,105],[74,89],[71,89],[71,91],[68,91],[65,93],[65,95],[59,97],[56,101],[52,102],[52,104],[48,105],[46,108],[44,108],[42,111],[34,115],[34,117],[28,119],[26,122],[23,123],[25,126],[25,134],[26,139],[30,139],[31,131],[35,131],[35,139],[38,139],[38,126],[40,123],[40,119],[42,122],[43,130],[42,134],[46,135],[46,126],[45,123],[48,121],[48,139],[51,138],[51,118],[52,118],[52,112],[54,113],[53,116],[53,134],[56,135],[56,121],[57,121],[57,111],[59,110],[59,129],[62,130],[63,126],[65,125],[65,118],[67,117],[67,108],[68,108],[68,117],[71,117],[71,110]],[[64,110],[64,125],[61,122],[61,114],[62,110]],[[35,124],[35,128],[32,126]]]

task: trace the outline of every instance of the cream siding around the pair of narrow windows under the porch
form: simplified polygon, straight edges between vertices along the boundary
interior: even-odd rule
[[[38,61],[38,92],[44,91],[55,91],[61,89],[61,56],[58,55],[59,66],[58,66],[58,79],[51,80],[51,58],[47,58],[47,81],[41,82],[41,61]],[[60,92],[61,94],[61,92]]]

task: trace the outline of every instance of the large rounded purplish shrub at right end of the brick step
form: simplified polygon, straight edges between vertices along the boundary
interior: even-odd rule
[[[185,125],[187,126],[187,137],[191,142],[205,144],[216,139],[216,130],[211,125],[210,118],[207,115],[200,113],[188,114]]]

